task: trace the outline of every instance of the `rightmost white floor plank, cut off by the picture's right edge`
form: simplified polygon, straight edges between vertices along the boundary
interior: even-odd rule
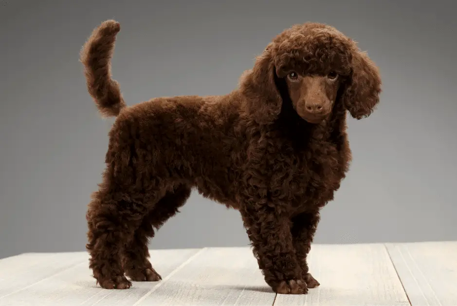
[[[412,306],[457,306],[457,242],[386,247]]]

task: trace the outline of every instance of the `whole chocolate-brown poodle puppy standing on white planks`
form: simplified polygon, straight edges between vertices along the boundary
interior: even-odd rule
[[[360,119],[379,101],[375,64],[328,25],[295,25],[223,96],[153,98],[127,107],[110,73],[119,23],[103,22],[81,61],[98,110],[117,116],[106,170],[87,220],[90,268],[103,288],[158,281],[147,241],[196,188],[239,210],[266,283],[307,293],[319,210],[351,159],[346,111]],[[125,276],[126,275],[126,276]]]

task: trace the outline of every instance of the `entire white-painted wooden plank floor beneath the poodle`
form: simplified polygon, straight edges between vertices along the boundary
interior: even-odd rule
[[[95,284],[86,252],[0,260],[0,305],[457,306],[457,242],[313,245],[307,295],[276,295],[250,248],[151,250],[163,280]]]

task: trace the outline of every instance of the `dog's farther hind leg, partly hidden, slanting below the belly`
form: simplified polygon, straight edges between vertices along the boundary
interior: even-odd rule
[[[186,185],[179,185],[173,191],[167,191],[162,199],[151,206],[143,218],[122,256],[124,270],[132,281],[155,282],[161,280],[161,276],[148,259],[148,238],[154,237],[154,228],[159,229],[166,220],[178,212],[178,208],[183,206],[189,198],[190,192],[190,187]]]

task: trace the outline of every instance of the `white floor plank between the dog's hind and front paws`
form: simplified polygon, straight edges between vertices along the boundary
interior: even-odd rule
[[[274,298],[250,248],[208,248],[151,289],[135,306],[270,306]]]

